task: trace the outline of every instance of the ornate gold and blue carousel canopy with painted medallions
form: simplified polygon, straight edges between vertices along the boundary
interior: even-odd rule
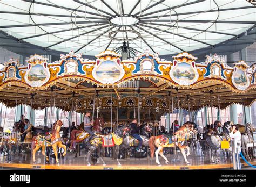
[[[160,115],[178,107],[248,106],[256,99],[256,69],[244,61],[230,67],[217,54],[200,63],[186,52],[173,56],[173,61],[158,55],[147,49],[122,61],[121,55],[104,51],[89,60],[70,52],[55,62],[32,55],[28,66],[10,59],[0,70],[0,96],[8,106],[84,112],[94,105],[105,113],[119,107],[131,116],[138,106],[141,112],[151,109]]]

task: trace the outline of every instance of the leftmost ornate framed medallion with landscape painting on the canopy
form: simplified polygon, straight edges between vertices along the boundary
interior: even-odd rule
[[[31,87],[41,87],[48,82],[50,71],[46,62],[47,59],[39,55],[30,56],[28,69],[25,74],[25,81]]]

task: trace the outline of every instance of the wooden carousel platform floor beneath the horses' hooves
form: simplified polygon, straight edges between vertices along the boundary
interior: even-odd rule
[[[186,165],[183,157],[180,153],[178,153],[176,158],[179,161],[174,162],[174,155],[165,155],[169,160],[169,164],[166,165],[164,160],[159,157],[159,161],[162,166],[157,166],[156,158],[129,158],[129,159],[119,159],[122,166],[117,166],[116,160],[111,158],[103,157],[106,166],[102,166],[102,163],[91,164],[91,166],[87,166],[85,162],[85,156],[82,152],[82,156],[75,158],[74,153],[68,153],[64,158],[60,159],[60,165],[57,166],[55,164],[55,159],[51,159],[50,164],[44,164],[44,157],[41,153],[36,154],[36,160],[38,164],[33,164],[32,157],[30,154],[21,154],[20,156],[12,155],[11,163],[6,161],[6,156],[0,155],[0,168],[19,168],[19,169],[75,169],[75,170],[91,170],[91,169],[233,169],[233,163],[231,159],[226,158],[225,156],[219,156],[220,162],[218,164],[212,164],[210,162],[210,157],[205,154],[200,155],[197,153],[191,154],[188,156],[188,161],[191,165]],[[247,167],[247,164],[241,160],[242,168]],[[251,164],[256,164],[256,159],[252,159],[250,161]],[[247,167],[250,169],[250,167]]]

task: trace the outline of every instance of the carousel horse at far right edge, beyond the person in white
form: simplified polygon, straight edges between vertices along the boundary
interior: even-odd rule
[[[242,152],[245,154],[247,159],[253,158],[253,151],[250,157],[248,143],[253,143],[253,132],[255,132],[255,127],[252,123],[245,124],[245,133],[241,136],[241,146]],[[252,148],[253,149],[253,148]]]

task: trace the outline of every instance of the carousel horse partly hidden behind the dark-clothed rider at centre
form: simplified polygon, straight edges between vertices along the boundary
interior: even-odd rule
[[[149,146],[149,133],[151,133],[152,128],[150,124],[145,123],[140,127],[140,137],[142,138],[142,146],[147,147]],[[138,140],[130,135],[129,137],[130,146],[134,146],[138,144]]]

